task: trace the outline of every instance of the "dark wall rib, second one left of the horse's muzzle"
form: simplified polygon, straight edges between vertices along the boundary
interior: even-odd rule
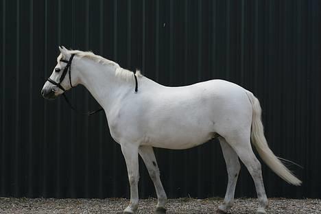
[[[20,80],[20,0],[16,0],[16,141],[14,142],[14,196],[19,197],[20,160],[20,118],[19,118],[19,80]]]

